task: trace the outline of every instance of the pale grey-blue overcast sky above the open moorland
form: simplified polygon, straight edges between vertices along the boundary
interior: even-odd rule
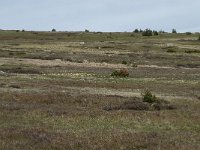
[[[200,0],[0,0],[0,29],[200,32]]]

